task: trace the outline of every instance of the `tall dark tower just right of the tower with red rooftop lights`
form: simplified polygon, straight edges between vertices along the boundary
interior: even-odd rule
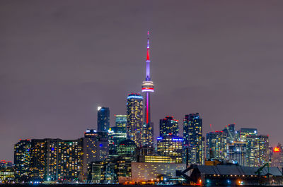
[[[183,137],[185,161],[190,164],[202,164],[204,147],[202,147],[202,119],[199,113],[185,115]]]

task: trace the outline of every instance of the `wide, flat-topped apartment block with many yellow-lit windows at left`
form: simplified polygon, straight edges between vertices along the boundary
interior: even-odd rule
[[[28,143],[28,142],[26,142]],[[20,143],[15,146],[16,160]],[[30,141],[28,177],[31,180],[79,181],[83,167],[81,139],[33,139]]]

